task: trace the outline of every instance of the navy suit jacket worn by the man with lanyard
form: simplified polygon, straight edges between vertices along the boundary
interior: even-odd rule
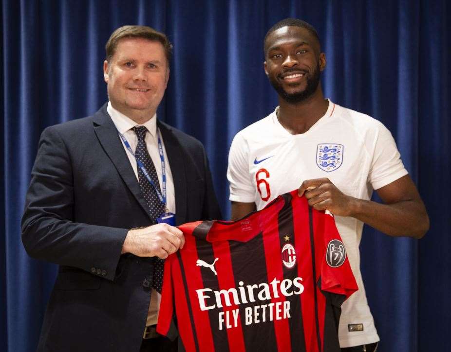
[[[221,218],[202,144],[158,122],[175,188],[176,221]],[[121,255],[129,229],[152,224],[104,105],[46,128],[39,141],[22,241],[59,264],[38,351],[139,351],[153,259]]]

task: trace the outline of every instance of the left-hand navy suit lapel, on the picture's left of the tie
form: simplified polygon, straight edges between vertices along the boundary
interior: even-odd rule
[[[95,113],[93,120],[94,133],[96,134],[100,144],[108,154],[108,157],[113,162],[117,172],[122,177],[127,187],[151,219],[144,195],[139,187],[139,182],[133,172],[132,165],[130,165],[130,160],[124,150],[124,146],[122,145],[122,141],[117,133],[116,126],[114,125],[110,115],[108,115],[106,104]]]

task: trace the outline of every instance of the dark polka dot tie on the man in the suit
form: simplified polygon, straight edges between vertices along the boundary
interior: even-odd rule
[[[133,127],[134,133],[138,137],[138,144],[135,150],[135,156],[139,159],[146,168],[149,173],[150,179],[155,184],[155,187],[160,189],[160,182],[158,181],[158,175],[155,170],[155,166],[153,165],[152,159],[150,158],[149,152],[147,151],[146,141],[144,140],[146,137],[147,128],[144,126]],[[141,169],[138,166],[138,179],[139,186],[141,187],[141,192],[144,194],[144,199],[146,200],[146,204],[149,207],[150,215],[152,217],[153,223],[156,224],[156,219],[158,216],[164,213],[165,206],[160,201],[155,188],[150,184],[149,180]],[[164,260],[158,257],[154,257],[153,264],[153,283],[152,287],[161,293],[161,287],[163,284],[163,268],[164,268]]]

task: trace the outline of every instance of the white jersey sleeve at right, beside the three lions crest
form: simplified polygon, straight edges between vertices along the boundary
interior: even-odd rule
[[[368,182],[375,190],[408,174],[390,131],[380,122],[377,129],[368,175]]]

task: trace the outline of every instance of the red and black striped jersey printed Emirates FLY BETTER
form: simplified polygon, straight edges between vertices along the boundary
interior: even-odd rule
[[[187,351],[340,351],[357,290],[334,218],[297,190],[234,222],[184,224],[165,264],[157,331]]]

